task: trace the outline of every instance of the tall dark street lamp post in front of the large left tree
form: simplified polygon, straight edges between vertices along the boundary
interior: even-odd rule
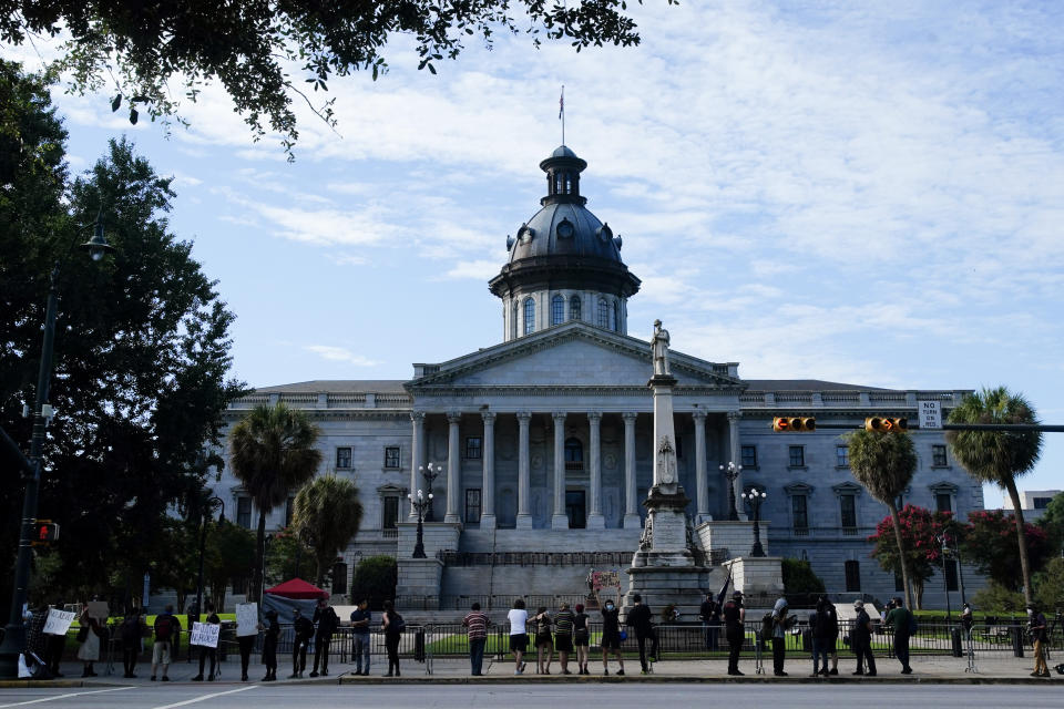
[[[103,222],[96,215],[96,224],[91,239],[81,245],[94,261],[113,250],[103,236]],[[37,377],[37,398],[33,403],[33,433],[30,439],[29,470],[23,475],[25,493],[22,497],[22,523],[19,530],[19,554],[14,564],[14,589],[11,594],[11,612],[0,644],[0,678],[19,676],[19,654],[25,646],[25,625],[22,623],[22,606],[25,605],[32,561],[32,530],[37,521],[37,501],[43,465],[44,429],[51,413],[48,403],[52,380],[52,354],[55,343],[55,312],[59,308],[59,261],[52,268],[48,289],[48,305],[44,311],[44,337],[41,342],[41,367]]]

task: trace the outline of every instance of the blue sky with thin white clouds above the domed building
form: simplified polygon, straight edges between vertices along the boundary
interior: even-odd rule
[[[1025,393],[1064,422],[1064,11],[1022,2],[635,8],[636,49],[472,44],[439,74],[403,40],[329,82],[297,162],[217,89],[166,138],[55,92],[74,171],[127,134],[238,319],[254,386],[406,379],[502,339],[487,288],[560,142],[643,279],[631,335],[750,379]],[[3,48],[39,66],[53,49]],[[1047,434],[1023,489],[1064,486]],[[1000,502],[988,490],[988,505]]]

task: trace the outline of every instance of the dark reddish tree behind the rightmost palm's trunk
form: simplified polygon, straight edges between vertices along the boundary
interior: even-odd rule
[[[1027,538],[1027,559],[1037,571],[1050,554],[1045,532],[1024,523]],[[964,532],[964,558],[970,559],[979,573],[989,576],[1009,590],[1020,590],[1023,584],[1023,566],[1016,555],[1016,523],[1012,513],[1002,510],[971,512]],[[1024,598],[1025,603],[1030,603]]]

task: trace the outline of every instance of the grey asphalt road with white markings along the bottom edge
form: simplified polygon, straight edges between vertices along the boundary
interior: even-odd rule
[[[218,685],[153,686],[117,689],[4,689],[0,709],[33,707],[41,709],[432,709],[437,707],[490,707],[492,709],[543,709],[544,707],[606,706],[611,709],[645,709],[667,702],[681,707],[715,706],[728,709],[823,709],[861,707],[897,709],[899,706],[1023,707],[1037,709],[1064,706],[1058,687],[1010,685],[881,685],[877,687],[804,685],[590,685],[538,687],[532,685]]]

